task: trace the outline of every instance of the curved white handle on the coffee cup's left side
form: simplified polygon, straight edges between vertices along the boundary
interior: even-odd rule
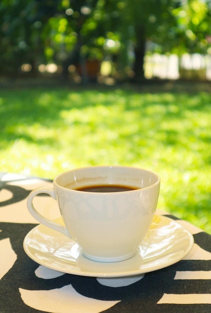
[[[41,224],[53,229],[53,230],[56,230],[56,231],[59,231],[61,232],[62,234],[64,234],[65,236],[69,237],[69,238],[72,238],[69,234],[69,232],[67,231],[66,227],[54,222],[54,221],[51,221],[50,219],[44,217],[43,215],[41,215],[34,207],[33,205],[33,198],[39,194],[39,193],[47,193],[49,194],[54,200],[56,200],[56,194],[55,194],[55,191],[54,189],[52,188],[48,188],[48,187],[38,187],[34,190],[32,190],[29,195],[28,195],[28,198],[27,198],[27,207],[28,207],[28,210],[29,212],[31,213],[31,215],[36,219],[38,220]]]

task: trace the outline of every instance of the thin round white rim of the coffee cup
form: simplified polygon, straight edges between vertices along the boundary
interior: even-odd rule
[[[132,189],[132,190],[125,190],[125,191],[115,191],[115,194],[117,193],[125,193],[125,192],[136,192],[137,190],[144,190],[144,189],[149,189],[149,188],[152,188],[154,186],[156,186],[157,184],[160,184],[160,181],[161,181],[161,178],[160,178],[160,175],[157,174],[155,171],[153,170],[150,170],[150,169],[147,169],[147,168],[142,168],[142,167],[137,167],[137,166],[125,166],[125,165],[91,165],[91,166],[82,166],[82,167],[76,167],[76,168],[72,168],[72,169],[69,169],[69,170],[66,170],[66,171],[63,171],[61,173],[59,173],[58,175],[55,176],[55,178],[53,179],[53,184],[54,185],[57,185],[59,188],[62,188],[62,189],[65,189],[65,190],[71,190],[71,191],[75,191],[75,192],[81,192],[81,190],[77,190],[77,189],[71,189],[71,188],[67,188],[67,187],[64,187],[62,186],[61,184],[59,184],[57,182],[57,180],[63,176],[63,175],[66,175],[67,173],[69,172],[74,172],[74,171],[77,171],[77,170],[83,170],[83,169],[90,169],[90,168],[127,168],[127,169],[137,169],[137,170],[141,170],[141,171],[145,171],[145,172],[148,172],[148,173],[151,173],[153,174],[157,180],[156,182],[154,182],[153,184],[150,184],[149,186],[146,186],[146,187],[140,187],[140,188],[137,188],[137,189]],[[124,184],[123,184],[124,185]],[[95,194],[113,194],[114,192],[93,192],[93,191],[86,191],[86,193],[95,193]]]

